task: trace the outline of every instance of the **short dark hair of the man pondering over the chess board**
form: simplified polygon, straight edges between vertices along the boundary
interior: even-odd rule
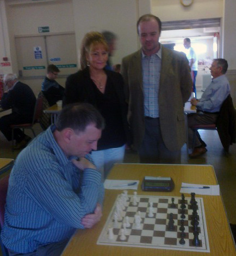
[[[91,104],[74,103],[66,105],[60,112],[55,126],[59,132],[71,128],[77,133],[84,132],[89,124],[95,124],[97,129],[104,129],[104,118]]]

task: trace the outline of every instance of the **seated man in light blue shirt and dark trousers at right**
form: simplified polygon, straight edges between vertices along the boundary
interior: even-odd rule
[[[194,130],[192,126],[197,124],[214,124],[218,117],[221,105],[230,93],[229,81],[226,78],[228,63],[226,59],[218,58],[213,59],[212,66],[210,67],[210,74],[213,79],[206,91],[202,94],[201,99],[192,98],[191,104],[197,108],[196,114],[188,115],[188,139],[189,145],[192,144]],[[195,140],[194,150],[189,157],[197,157],[207,152],[206,144],[201,140],[199,133]]]

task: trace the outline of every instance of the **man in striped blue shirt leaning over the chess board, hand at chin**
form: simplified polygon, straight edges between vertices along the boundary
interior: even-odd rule
[[[89,152],[103,128],[90,104],[67,105],[18,155],[1,235],[10,255],[60,255],[76,229],[100,221],[104,188]]]

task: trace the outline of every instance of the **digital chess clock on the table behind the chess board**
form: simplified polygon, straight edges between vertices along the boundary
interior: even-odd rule
[[[151,177],[145,176],[142,181],[142,190],[170,192],[175,188],[175,183],[171,177]]]

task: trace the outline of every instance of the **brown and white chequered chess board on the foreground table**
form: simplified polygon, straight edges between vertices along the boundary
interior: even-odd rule
[[[118,195],[116,201],[121,197]],[[125,204],[125,209],[122,211],[122,218],[120,221],[116,221],[114,227],[114,212],[116,209],[116,201],[111,209],[110,215],[104,228],[98,237],[97,245],[109,245],[109,246],[130,246],[130,247],[146,247],[146,248],[158,248],[158,249],[173,249],[182,251],[196,251],[196,252],[210,252],[209,241],[207,235],[207,225],[204,215],[204,205],[202,198],[195,198],[197,202],[197,213],[199,216],[198,222],[198,239],[200,246],[194,246],[192,240],[194,239],[193,227],[191,225],[192,210],[190,209],[190,199],[185,198],[185,219],[184,219],[184,241],[185,244],[181,245],[181,197],[155,197],[155,196],[142,196],[137,195],[137,205],[132,204],[132,195],[128,195],[128,199]],[[171,208],[171,199],[174,198],[176,208]],[[153,217],[148,217],[149,203],[153,203]],[[140,228],[135,228],[134,215],[140,211],[141,224]],[[174,229],[170,231],[168,229],[168,222],[170,213],[173,213]],[[126,239],[121,240],[121,228],[122,223],[125,221],[125,217],[128,216],[131,227],[126,228]],[[108,229],[113,227],[113,239],[109,239]]]

